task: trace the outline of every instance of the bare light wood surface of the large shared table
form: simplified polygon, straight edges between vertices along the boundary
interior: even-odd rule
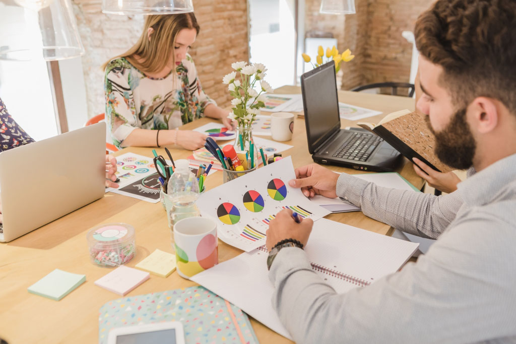
[[[299,87],[282,87],[277,93],[299,93]],[[372,95],[356,92],[339,92],[339,99],[348,104],[383,111],[385,114],[408,108],[413,110],[414,100],[408,97]],[[383,115],[369,119],[377,122]],[[183,126],[192,129],[208,123],[201,119]],[[343,126],[352,122],[342,121]],[[308,154],[304,120],[296,119],[292,141],[285,142],[295,148],[283,153],[292,155],[295,167],[312,162]],[[118,154],[134,152],[152,156],[151,149],[130,148]],[[186,158],[190,152],[172,150],[175,159]],[[158,153],[165,156],[165,151]],[[415,187],[421,188],[423,181],[406,161],[398,171]],[[355,170],[332,167],[335,171],[357,173]],[[222,183],[222,173],[211,175],[208,189]],[[341,221],[381,234],[389,234],[390,227],[365,217],[361,212],[333,214],[329,219]],[[98,341],[99,308],[107,301],[119,296],[93,282],[110,270],[90,263],[87,231],[98,224],[126,222],[136,228],[136,257],[127,264],[134,267],[155,249],[171,252],[170,230],[161,204],[148,203],[114,193],[82,207],[37,231],[17,240],[0,245],[0,337],[10,344],[15,343],[94,343]],[[242,251],[219,241],[219,261],[230,259]],[[30,294],[27,288],[54,269],[86,274],[87,281],[61,301],[53,301]],[[195,283],[182,279],[173,273],[166,279],[151,275],[150,280],[137,287],[129,296],[155,291],[193,286]],[[270,302],[270,300],[264,300]],[[261,323],[251,319],[257,338],[264,343],[290,342],[272,332]]]

